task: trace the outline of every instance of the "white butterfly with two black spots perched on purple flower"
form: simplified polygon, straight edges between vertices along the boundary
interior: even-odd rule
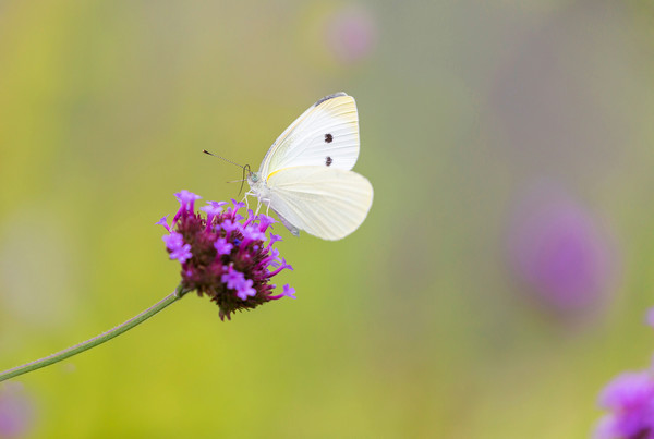
[[[346,237],[365,219],[373,186],[350,171],[359,157],[354,98],[336,93],[318,100],[286,129],[247,176],[250,191],[295,236]]]

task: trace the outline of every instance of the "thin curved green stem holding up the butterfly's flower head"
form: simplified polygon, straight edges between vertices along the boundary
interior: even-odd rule
[[[27,374],[28,371],[40,369],[41,367],[49,366],[51,364],[61,362],[62,359],[69,358],[73,355],[78,354],[80,352],[84,352],[88,349],[95,347],[98,344],[102,344],[106,341],[111,340],[112,338],[120,336],[121,333],[134,328],[136,325],[141,324],[144,320],[147,320],[171,303],[179,301],[184,295],[185,291],[182,290],[182,286],[178,286],[172,293],[164,297],[160,302],[154,304],[143,313],[138,314],[135,317],[132,317],[124,324],[117,326],[108,331],[102,332],[99,336],[94,337],[93,339],[83,341],[80,344],[75,344],[69,349],[64,349],[63,351],[57,352],[52,355],[48,355],[40,359],[35,359],[34,362],[26,363],[21,366],[12,367],[11,369],[4,370],[0,373],[0,381],[4,381],[5,379],[10,379],[13,377],[17,377],[19,375]]]

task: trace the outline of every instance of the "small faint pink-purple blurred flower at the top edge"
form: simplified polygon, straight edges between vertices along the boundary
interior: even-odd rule
[[[342,63],[354,63],[367,57],[377,42],[377,27],[367,9],[344,7],[328,21],[327,46]]]

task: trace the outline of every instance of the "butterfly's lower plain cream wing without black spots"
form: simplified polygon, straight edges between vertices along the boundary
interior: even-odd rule
[[[268,198],[270,208],[293,234],[305,230],[335,241],[361,225],[373,204],[373,186],[352,171],[293,167],[269,176]]]

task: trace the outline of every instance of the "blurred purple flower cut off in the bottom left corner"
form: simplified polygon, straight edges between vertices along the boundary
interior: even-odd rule
[[[0,387],[0,438],[23,437],[32,425],[34,406],[16,382]]]

